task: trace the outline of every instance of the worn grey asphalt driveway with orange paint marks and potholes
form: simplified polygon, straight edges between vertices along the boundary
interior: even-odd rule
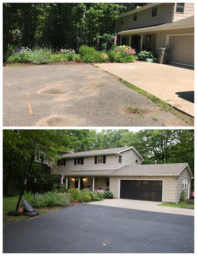
[[[3,86],[4,126],[187,125],[90,64],[4,67]]]

